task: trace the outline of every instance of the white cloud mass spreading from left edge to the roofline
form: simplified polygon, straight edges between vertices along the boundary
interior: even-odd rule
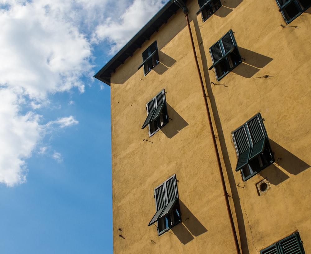
[[[49,117],[36,111],[61,110],[60,103],[55,107],[51,101],[53,94],[72,89],[84,92],[81,78],[94,74],[92,43],[109,41],[114,53],[164,3],[0,0],[0,183],[25,182],[26,160],[36,148],[39,154],[53,154],[62,161],[49,145],[38,145],[55,127],[71,127],[78,124],[77,119],[55,117],[44,124]]]

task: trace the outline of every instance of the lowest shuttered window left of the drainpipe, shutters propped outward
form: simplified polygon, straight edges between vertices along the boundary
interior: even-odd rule
[[[158,222],[158,234],[161,235],[181,222],[176,175],[156,187],[154,192],[156,214],[148,226]]]

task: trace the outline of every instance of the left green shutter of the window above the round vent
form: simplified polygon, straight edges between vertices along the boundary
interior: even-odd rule
[[[232,136],[235,142],[236,150],[238,152],[238,162],[236,164],[235,171],[239,171],[248,164],[248,158],[251,149],[247,138],[245,126],[243,125],[239,129],[232,132]]]

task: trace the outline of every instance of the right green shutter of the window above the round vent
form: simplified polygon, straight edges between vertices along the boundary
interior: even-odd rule
[[[249,159],[253,159],[263,152],[266,142],[260,114],[257,114],[254,118],[246,122],[246,125],[253,143]]]

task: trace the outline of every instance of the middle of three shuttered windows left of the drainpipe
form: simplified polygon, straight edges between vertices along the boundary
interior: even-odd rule
[[[169,122],[164,89],[146,104],[146,109],[147,118],[142,129],[149,125],[149,136],[152,136]]]

